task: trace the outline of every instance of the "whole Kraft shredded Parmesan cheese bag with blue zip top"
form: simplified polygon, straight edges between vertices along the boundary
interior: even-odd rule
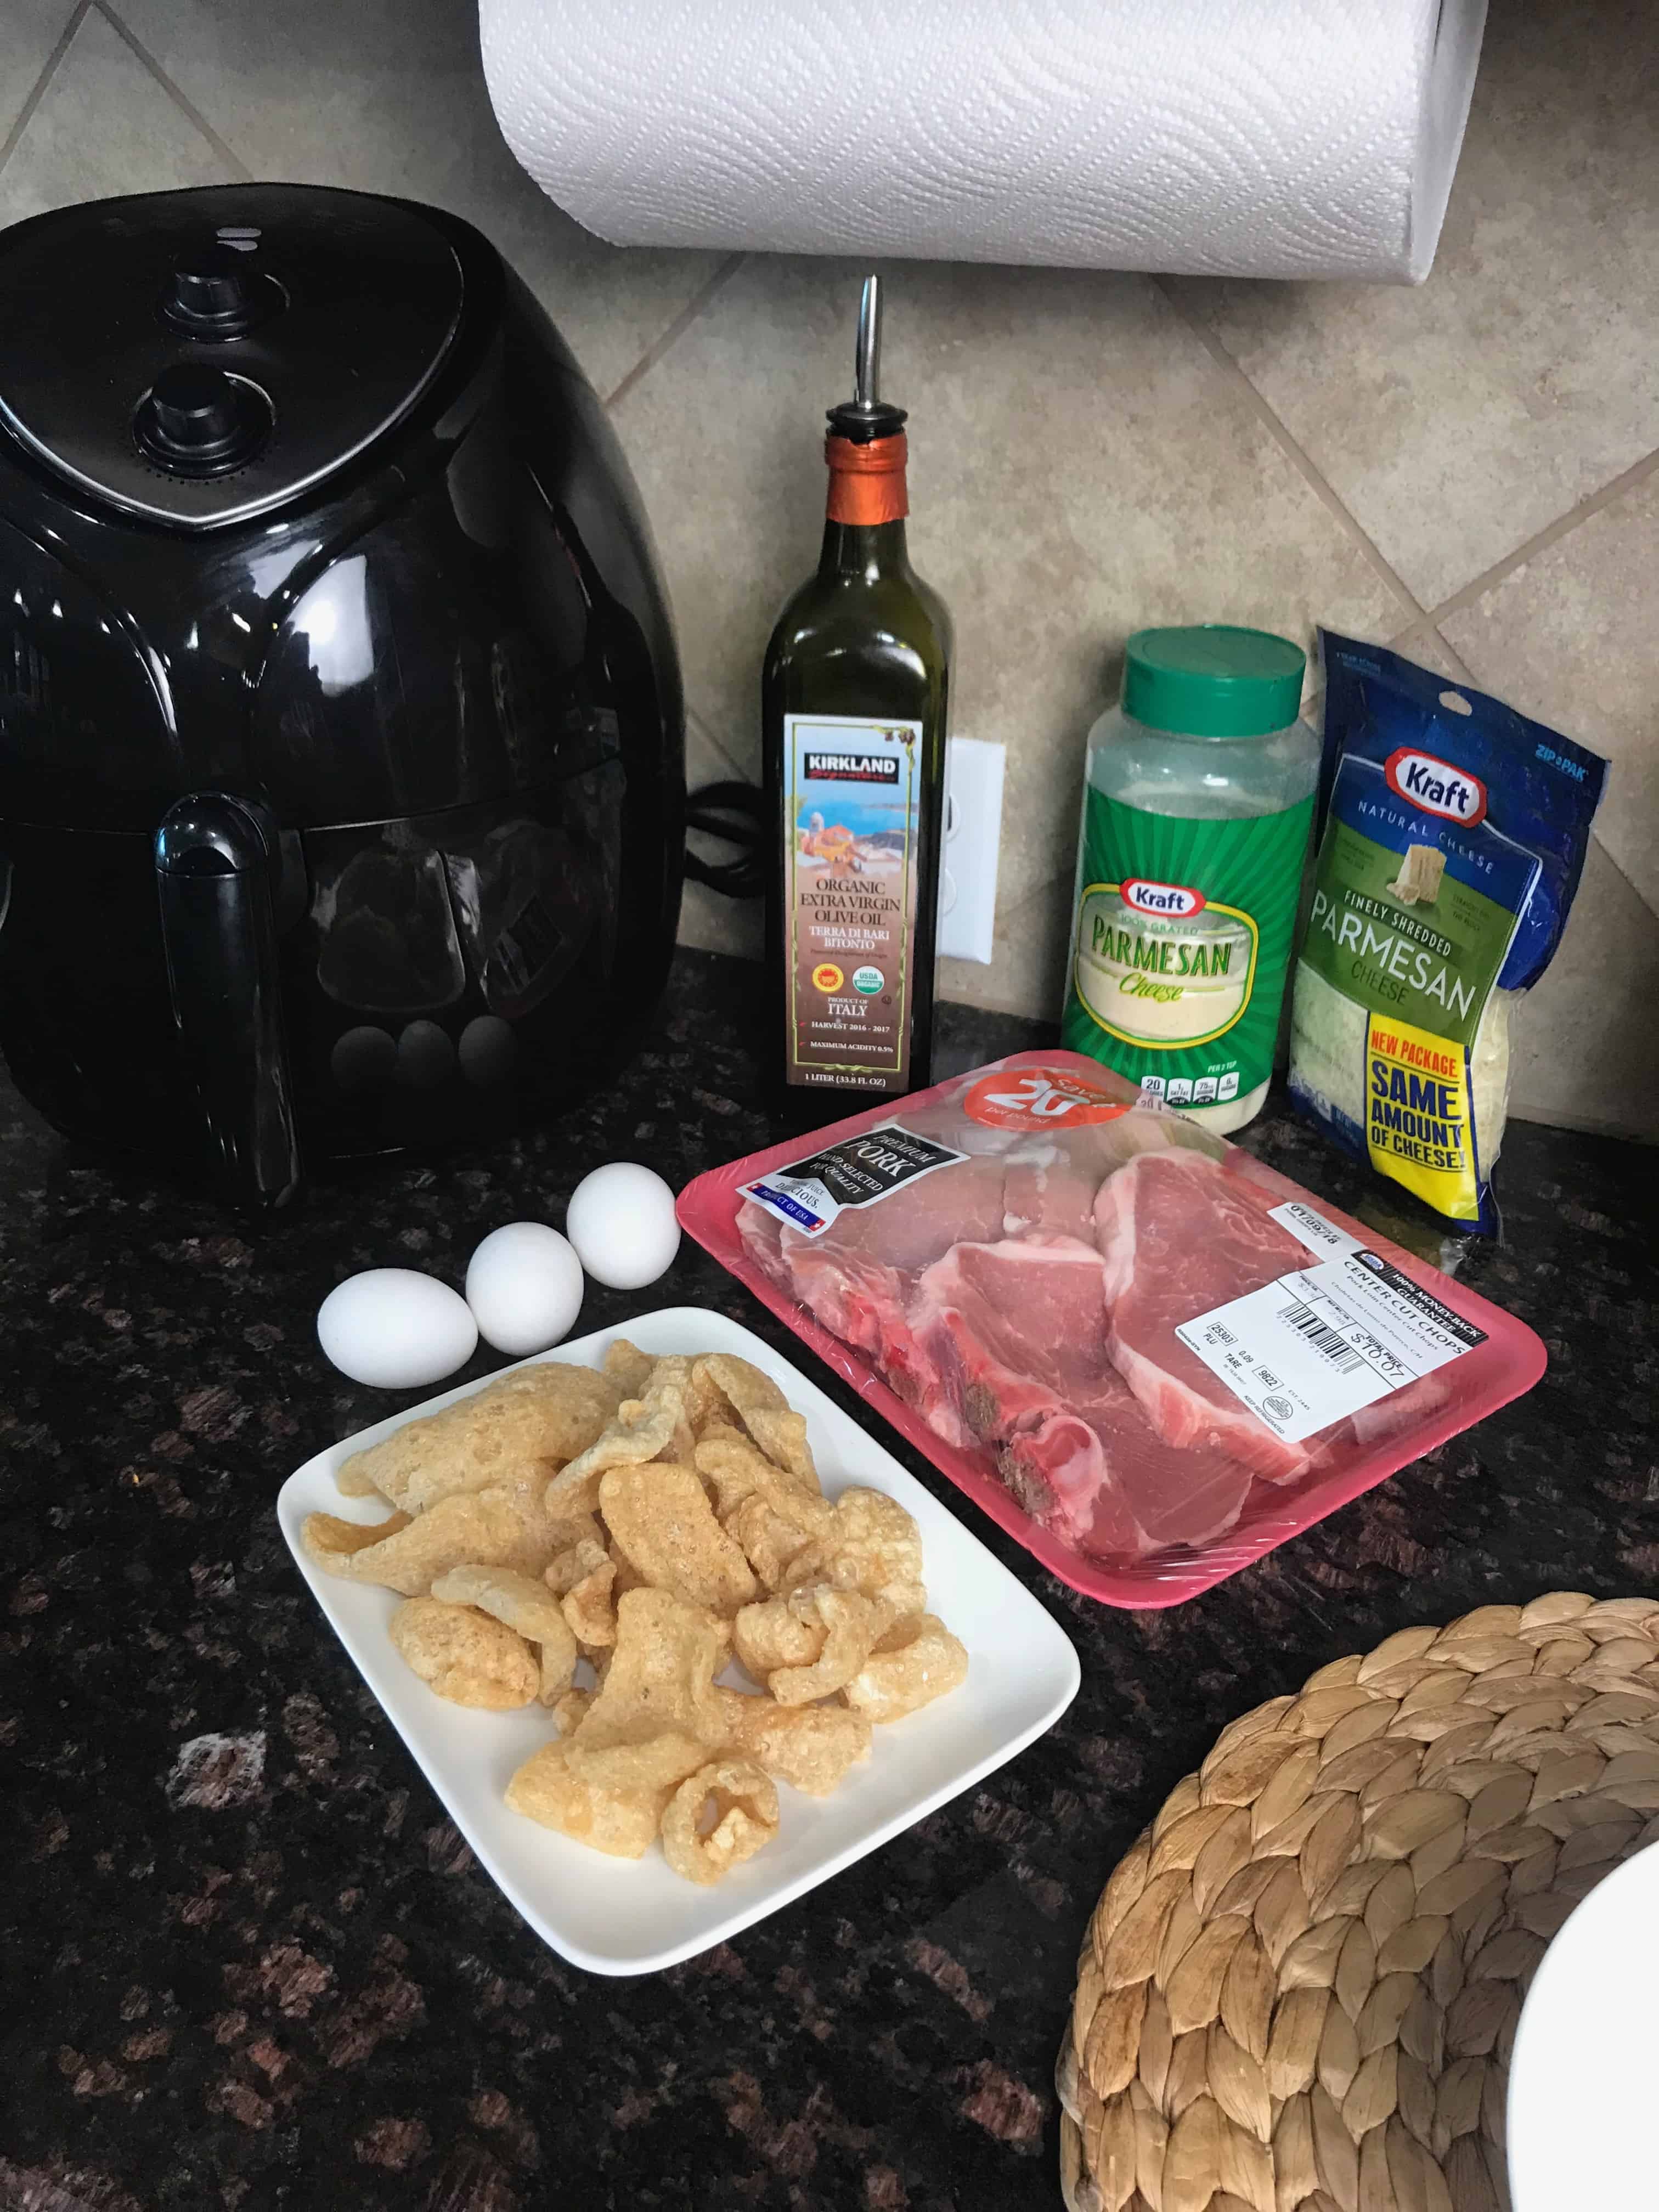
[[[1321,644],[1290,1091],[1378,1175],[1495,1230],[1511,1009],[1562,940],[1608,763],[1385,646]]]

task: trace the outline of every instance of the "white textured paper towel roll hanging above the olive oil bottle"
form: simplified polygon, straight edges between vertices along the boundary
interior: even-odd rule
[[[482,0],[518,159],[622,246],[1429,274],[1486,0]]]

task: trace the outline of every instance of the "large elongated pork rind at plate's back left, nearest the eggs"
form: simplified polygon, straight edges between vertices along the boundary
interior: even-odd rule
[[[442,1413],[405,1422],[385,1442],[354,1453],[336,1482],[345,1495],[374,1489],[405,1513],[425,1513],[456,1491],[515,1478],[546,1482],[595,1442],[619,1402],[622,1387],[611,1376],[566,1360],[538,1360]]]

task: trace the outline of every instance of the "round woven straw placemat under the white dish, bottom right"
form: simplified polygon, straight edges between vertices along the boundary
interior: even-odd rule
[[[1088,1924],[1071,2212],[1509,2212],[1526,1984],[1657,1812],[1648,1597],[1402,1628],[1243,1714]]]

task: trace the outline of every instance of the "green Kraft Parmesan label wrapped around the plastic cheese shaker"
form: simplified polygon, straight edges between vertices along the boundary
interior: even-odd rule
[[[1091,790],[1062,1042],[1170,1106],[1263,1084],[1312,812],[1190,821]]]

